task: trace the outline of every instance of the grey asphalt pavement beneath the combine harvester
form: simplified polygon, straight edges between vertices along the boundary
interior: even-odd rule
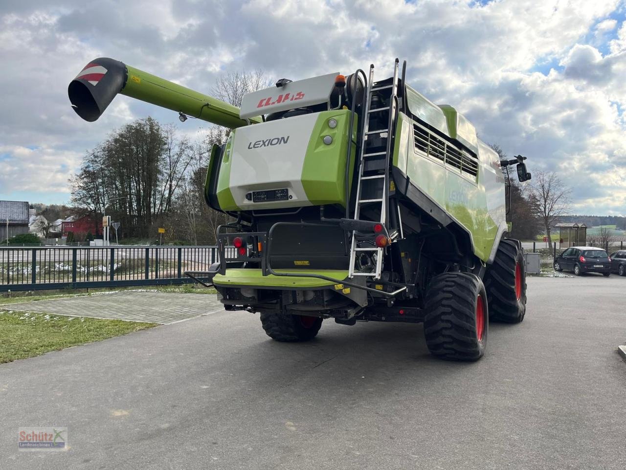
[[[219,311],[0,365],[2,469],[626,467],[626,278],[529,278],[520,325],[443,362],[421,325],[277,343]],[[197,295],[197,294],[190,294]],[[18,452],[65,426],[68,452]]]

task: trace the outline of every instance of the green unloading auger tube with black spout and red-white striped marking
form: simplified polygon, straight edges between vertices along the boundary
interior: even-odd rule
[[[89,122],[97,120],[118,93],[231,129],[248,124],[233,105],[110,58],[90,61],[68,86],[74,111]]]

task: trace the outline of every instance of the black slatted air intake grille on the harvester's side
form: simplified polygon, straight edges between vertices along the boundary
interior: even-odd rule
[[[454,147],[419,124],[413,124],[413,136],[416,152],[440,160],[447,167],[458,169],[461,174],[468,174],[473,178],[478,175],[478,158],[476,155]]]

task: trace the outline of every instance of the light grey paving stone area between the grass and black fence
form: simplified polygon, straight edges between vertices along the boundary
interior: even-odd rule
[[[4,308],[54,315],[173,323],[220,311],[223,305],[217,300],[217,295],[212,294],[125,291],[14,303]]]

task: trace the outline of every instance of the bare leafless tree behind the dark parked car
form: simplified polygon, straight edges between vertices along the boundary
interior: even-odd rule
[[[531,188],[536,199],[536,204],[533,204],[535,216],[545,227],[548,243],[552,249],[550,227],[557,222],[559,216],[565,215],[570,209],[572,191],[563,185],[556,173],[543,171],[533,174]]]

